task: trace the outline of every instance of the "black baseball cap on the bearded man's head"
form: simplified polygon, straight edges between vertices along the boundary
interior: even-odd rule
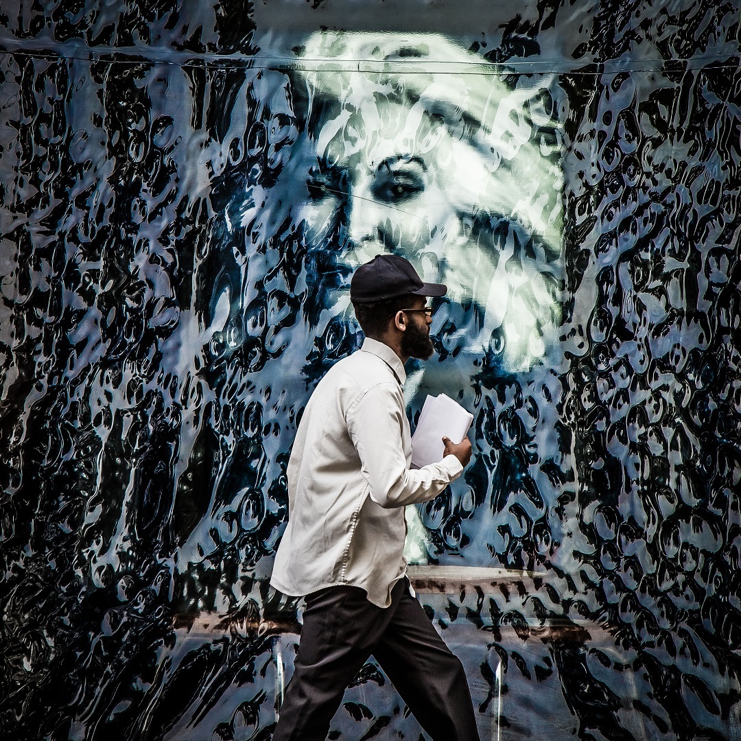
[[[353,304],[372,304],[410,293],[445,296],[448,286],[423,282],[411,262],[399,255],[376,255],[370,262],[356,268],[350,280],[350,301]]]

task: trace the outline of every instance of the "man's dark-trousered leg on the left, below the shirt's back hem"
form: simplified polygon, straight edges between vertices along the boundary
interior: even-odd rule
[[[293,679],[273,741],[324,741],[342,694],[392,617],[357,587],[330,587],[306,598]]]

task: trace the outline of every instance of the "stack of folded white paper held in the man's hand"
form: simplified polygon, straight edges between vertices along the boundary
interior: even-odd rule
[[[412,436],[412,468],[442,461],[443,437],[461,442],[471,427],[473,414],[453,401],[450,396],[428,396],[419,413],[419,422]]]

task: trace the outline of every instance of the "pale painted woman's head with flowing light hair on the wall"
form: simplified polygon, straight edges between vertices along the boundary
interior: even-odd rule
[[[345,274],[388,251],[444,282],[433,334],[451,351],[494,344],[506,369],[521,371],[543,356],[558,319],[556,127],[529,90],[481,71],[431,71],[436,51],[480,62],[438,36],[308,44],[313,59],[384,62],[367,73],[305,73],[299,218],[308,245],[332,247]],[[416,70],[396,71],[410,58]]]

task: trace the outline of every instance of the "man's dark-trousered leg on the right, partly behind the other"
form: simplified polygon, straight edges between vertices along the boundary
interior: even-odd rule
[[[433,741],[479,741],[463,665],[408,589],[373,657]]]

